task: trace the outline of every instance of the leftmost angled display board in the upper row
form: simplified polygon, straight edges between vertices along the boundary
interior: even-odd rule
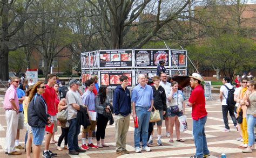
[[[81,53],[81,68],[98,68],[98,51]]]

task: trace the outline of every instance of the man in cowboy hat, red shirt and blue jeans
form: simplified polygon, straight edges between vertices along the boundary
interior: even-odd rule
[[[210,156],[205,137],[207,112],[205,109],[204,89],[201,86],[201,81],[203,81],[203,77],[197,73],[193,73],[192,76],[190,76],[190,87],[193,91],[188,99],[187,106],[192,107],[193,135],[194,144],[196,145],[196,154],[191,156],[192,158]]]

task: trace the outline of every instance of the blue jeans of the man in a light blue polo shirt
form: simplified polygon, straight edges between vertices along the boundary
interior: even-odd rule
[[[134,146],[139,147],[140,131],[142,131],[142,147],[147,145],[147,136],[149,134],[150,107],[135,107],[136,115],[139,121],[139,127],[134,130]]]

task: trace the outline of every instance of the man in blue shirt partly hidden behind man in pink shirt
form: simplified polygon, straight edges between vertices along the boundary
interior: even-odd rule
[[[25,98],[25,93],[23,90],[17,88],[17,96],[19,99],[19,114],[18,114],[18,130],[15,140],[15,148],[24,149],[23,146],[19,145],[19,130],[23,130],[24,128],[24,113],[23,113],[23,100]]]

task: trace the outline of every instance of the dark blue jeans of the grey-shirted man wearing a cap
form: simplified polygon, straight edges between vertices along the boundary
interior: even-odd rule
[[[80,133],[81,125],[77,125],[77,119],[69,120],[69,134],[68,134],[68,143],[69,150],[77,150],[78,146],[78,134]]]

